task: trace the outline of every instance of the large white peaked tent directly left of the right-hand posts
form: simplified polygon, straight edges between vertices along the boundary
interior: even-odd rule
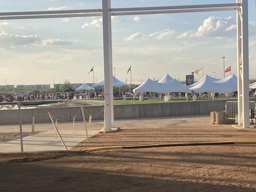
[[[232,93],[237,91],[237,77],[234,74],[223,79],[206,77],[190,89],[196,93]]]

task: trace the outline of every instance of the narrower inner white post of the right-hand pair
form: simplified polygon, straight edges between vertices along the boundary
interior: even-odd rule
[[[236,0],[237,3],[241,3],[241,0]],[[237,8],[236,12],[236,25],[237,25],[237,100],[238,100],[238,125],[242,125],[242,113],[243,113],[243,105],[242,105],[242,60],[241,60],[241,53],[242,53],[242,25],[241,25],[241,8]]]

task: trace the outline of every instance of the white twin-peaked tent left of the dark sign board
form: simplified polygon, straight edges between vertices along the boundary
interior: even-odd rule
[[[172,93],[184,92],[191,93],[191,90],[176,79],[167,83],[158,83],[151,79],[147,79],[143,84],[135,88],[134,93],[156,92],[156,93]]]

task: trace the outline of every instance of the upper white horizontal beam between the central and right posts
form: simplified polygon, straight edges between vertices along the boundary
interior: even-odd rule
[[[161,7],[136,7],[136,8],[111,8],[111,12],[134,12],[134,11],[157,11],[157,10],[178,10],[178,9],[201,9],[201,8],[223,8],[238,7],[241,3],[205,4],[205,5],[178,5]]]

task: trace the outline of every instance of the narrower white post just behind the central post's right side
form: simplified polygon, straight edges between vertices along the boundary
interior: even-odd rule
[[[111,0],[108,0],[108,9],[111,9]],[[112,59],[112,22],[109,12],[109,47],[110,47],[110,99],[111,99],[111,127],[114,127],[114,96],[113,96],[113,59]]]

